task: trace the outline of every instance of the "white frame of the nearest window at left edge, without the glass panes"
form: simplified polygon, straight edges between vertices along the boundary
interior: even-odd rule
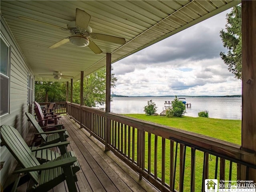
[[[0,114],[0,118],[3,116],[6,116],[8,114],[10,114],[10,63],[11,63],[11,46],[9,44],[9,42],[6,40],[6,38],[4,37],[4,35],[2,34],[2,32],[0,32],[0,39],[4,42],[4,44],[7,46],[8,48],[8,60],[7,60],[7,72],[6,74],[2,74],[2,72],[0,71],[1,76],[5,77],[8,79],[8,110],[6,113],[4,114]]]

